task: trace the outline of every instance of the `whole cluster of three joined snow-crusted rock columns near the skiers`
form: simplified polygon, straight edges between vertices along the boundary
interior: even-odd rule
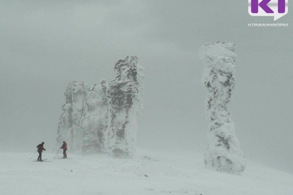
[[[73,81],[65,91],[58,127],[58,144],[68,141],[70,150],[132,157],[136,149],[137,116],[143,109],[142,67],[136,56],[115,63],[116,78],[87,89]]]

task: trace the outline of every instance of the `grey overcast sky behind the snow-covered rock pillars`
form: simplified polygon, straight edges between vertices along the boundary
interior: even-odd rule
[[[290,4],[291,6],[291,4]],[[249,160],[293,173],[293,14],[251,17],[247,0],[0,0],[0,151],[53,146],[69,81],[114,78],[136,55],[145,68],[138,146],[204,153],[199,48],[236,43],[228,105]]]

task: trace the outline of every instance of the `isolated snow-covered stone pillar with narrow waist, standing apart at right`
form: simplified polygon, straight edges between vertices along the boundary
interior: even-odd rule
[[[206,167],[217,171],[239,173],[245,169],[246,160],[240,151],[227,104],[235,86],[236,54],[231,42],[207,43],[200,48],[204,62],[202,82],[207,88],[208,149]]]

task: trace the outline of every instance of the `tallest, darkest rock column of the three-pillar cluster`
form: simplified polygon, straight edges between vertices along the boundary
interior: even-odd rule
[[[113,156],[131,157],[136,149],[137,115],[142,110],[142,67],[136,56],[115,63],[116,78],[109,83],[109,149]]]

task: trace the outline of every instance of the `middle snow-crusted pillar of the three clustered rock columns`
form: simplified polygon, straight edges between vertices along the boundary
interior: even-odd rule
[[[107,82],[102,79],[88,89],[85,100],[86,110],[81,120],[84,131],[83,153],[99,153],[107,151]]]

